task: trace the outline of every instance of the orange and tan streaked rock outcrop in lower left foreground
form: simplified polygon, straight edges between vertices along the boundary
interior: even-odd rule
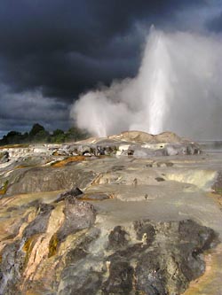
[[[35,215],[0,253],[0,294],[25,294],[35,285],[43,294],[47,288],[56,291],[56,276],[67,267],[64,262],[59,266],[59,258],[65,259],[68,249],[75,250],[72,241],[90,229],[96,217],[91,204],[68,199],[55,206],[36,203]]]

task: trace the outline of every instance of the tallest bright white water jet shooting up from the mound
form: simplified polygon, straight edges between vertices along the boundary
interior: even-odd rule
[[[130,129],[145,129],[151,134],[159,134],[164,130],[170,99],[173,97],[172,77],[167,38],[152,27],[137,78],[146,117]]]

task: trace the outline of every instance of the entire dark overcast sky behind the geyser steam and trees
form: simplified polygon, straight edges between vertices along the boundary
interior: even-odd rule
[[[1,0],[0,136],[69,128],[81,93],[137,74],[152,24],[221,34],[222,0]]]

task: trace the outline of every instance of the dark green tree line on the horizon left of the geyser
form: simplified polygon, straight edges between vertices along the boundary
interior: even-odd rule
[[[21,133],[18,131],[10,131],[7,135],[0,139],[0,145],[7,144],[62,144],[75,142],[85,139],[89,134],[76,127],[69,128],[66,132],[56,129],[52,133],[45,130],[44,126],[36,123],[29,132]]]

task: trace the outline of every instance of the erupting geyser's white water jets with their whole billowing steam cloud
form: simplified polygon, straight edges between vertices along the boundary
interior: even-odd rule
[[[83,94],[71,115],[95,136],[137,129],[221,138],[221,76],[221,36],[152,28],[138,75]]]

